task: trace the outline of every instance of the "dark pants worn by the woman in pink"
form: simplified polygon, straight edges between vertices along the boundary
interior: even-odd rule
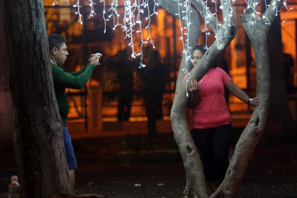
[[[206,181],[223,179],[229,166],[231,123],[193,131],[203,159]]]

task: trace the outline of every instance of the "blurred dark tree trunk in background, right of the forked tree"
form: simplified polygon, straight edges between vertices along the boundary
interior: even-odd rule
[[[283,61],[281,21],[277,16],[268,35],[271,68],[271,103],[264,141],[296,142],[297,126],[288,105]],[[280,138],[282,137],[282,138]]]

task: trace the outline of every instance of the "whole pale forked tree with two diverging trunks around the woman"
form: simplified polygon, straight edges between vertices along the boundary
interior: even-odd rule
[[[177,13],[174,12],[174,9],[172,7],[163,5],[166,4],[166,2],[166,0],[161,1],[160,5],[169,13]],[[195,5],[202,16],[202,11],[209,12],[208,9],[205,9],[206,6],[202,1],[192,0],[191,2],[193,3],[193,5]],[[274,1],[274,3],[277,3],[277,7],[279,8],[281,1]],[[210,21],[209,26],[213,28],[213,32],[216,34],[217,40],[205,52],[201,60],[198,62],[198,66],[192,69],[188,77],[189,81],[194,78],[200,80],[201,77],[207,72],[209,66],[218,57],[220,52],[229,45],[230,41],[235,36],[236,25],[234,19],[234,11],[232,10],[232,1],[222,0],[221,4],[224,5],[223,18],[226,18],[227,20],[220,24],[222,26],[216,26],[217,21],[213,17],[211,17],[211,14],[208,14],[208,16],[211,17],[210,19],[208,19],[208,21]],[[225,6],[226,4],[230,6],[227,7]],[[270,102],[270,70],[267,49],[267,35],[270,26],[265,25],[266,19],[259,18],[254,12],[257,5],[252,4],[251,1],[248,1],[248,4],[249,8],[246,9],[246,12],[242,17],[242,22],[245,30],[247,31],[248,37],[252,45],[254,46],[257,71],[256,96],[260,98],[261,102],[260,105],[255,108],[246,129],[244,130],[242,136],[238,141],[224,181],[217,189],[217,191],[210,196],[211,198],[217,198],[221,193],[223,193],[226,198],[237,197],[250,156],[264,131],[265,122],[268,117]],[[275,17],[275,13],[273,13],[272,9],[273,6],[270,6],[269,9],[266,11],[266,17],[271,22],[273,22]],[[233,12],[231,12],[231,10]],[[255,16],[253,16],[254,14]],[[230,18],[228,16],[230,16]],[[218,27],[218,29],[216,29],[216,27]],[[180,67],[184,66],[185,64],[182,62]],[[180,75],[183,74],[179,73],[179,76]],[[181,78],[178,77],[178,79]],[[208,195],[206,192],[202,164],[199,159],[194,141],[191,137],[186,119],[185,112],[187,108],[186,106],[188,98],[186,97],[185,88],[185,82],[181,86],[177,87],[173,106],[171,109],[172,129],[174,132],[175,140],[178,144],[183,158],[187,176],[187,184],[184,194],[186,195],[186,197],[188,197],[190,195],[190,192],[193,192],[195,198],[207,198]]]

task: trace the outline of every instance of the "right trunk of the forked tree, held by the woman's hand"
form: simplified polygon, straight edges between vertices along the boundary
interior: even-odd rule
[[[251,1],[248,1],[248,3],[252,4]],[[279,1],[276,5],[278,9],[280,4],[281,2]],[[237,198],[249,159],[264,132],[268,118],[271,82],[267,37],[270,26],[266,23],[267,19],[271,22],[274,21],[275,13],[272,7],[269,8],[266,11],[267,18],[264,19],[262,17],[254,17],[254,9],[255,7],[253,6],[247,8],[245,14],[241,17],[241,21],[254,49],[257,74],[256,96],[260,99],[260,104],[254,109],[247,127],[238,140],[224,181],[211,198],[218,196],[221,192],[227,198]]]

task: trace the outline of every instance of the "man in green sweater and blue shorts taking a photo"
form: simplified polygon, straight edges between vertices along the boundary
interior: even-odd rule
[[[99,60],[102,54],[92,54],[89,59],[89,65],[85,66],[79,71],[68,73],[60,67],[62,64],[64,64],[68,55],[66,48],[66,39],[58,34],[51,34],[48,36],[48,41],[54,92],[58,101],[59,111],[63,124],[63,139],[68,164],[69,180],[71,187],[74,190],[75,169],[77,169],[77,163],[69,131],[66,126],[69,104],[65,88],[82,89],[82,87],[85,86],[86,83],[89,81],[94,68],[99,65]]]

